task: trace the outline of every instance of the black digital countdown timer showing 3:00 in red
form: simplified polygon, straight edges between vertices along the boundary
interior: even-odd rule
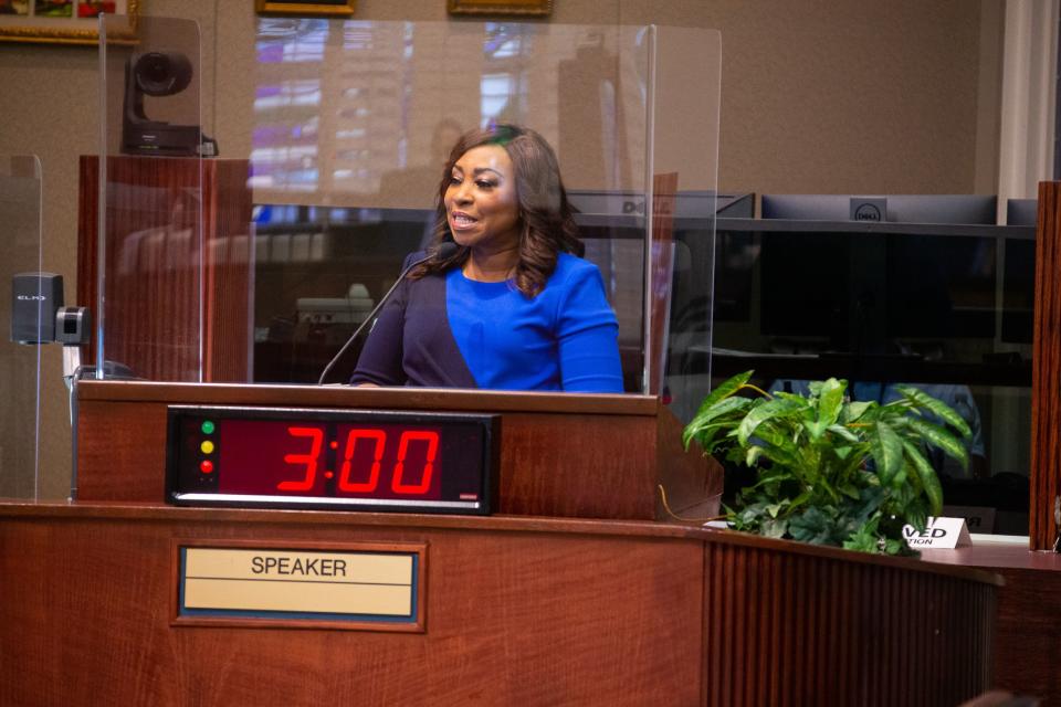
[[[169,503],[493,511],[498,415],[170,405]]]

